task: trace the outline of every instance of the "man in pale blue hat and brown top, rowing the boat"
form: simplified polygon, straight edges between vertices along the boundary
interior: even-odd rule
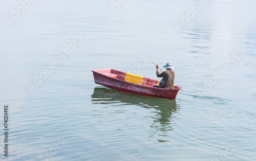
[[[166,65],[164,65],[163,67],[166,68],[166,70],[163,71],[161,74],[159,74],[159,71],[158,71],[158,68],[159,68],[158,64],[156,67],[157,67],[157,77],[163,77],[163,80],[166,82],[163,88],[174,89],[175,72],[173,71],[174,66],[172,65],[172,63],[167,63]],[[159,86],[154,86],[154,87],[159,88]]]

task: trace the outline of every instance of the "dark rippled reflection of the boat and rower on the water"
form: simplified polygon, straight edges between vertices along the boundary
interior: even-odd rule
[[[167,142],[169,140],[163,140],[167,137],[167,132],[173,130],[172,124],[176,117],[173,116],[174,113],[178,113],[177,110],[180,109],[179,104],[176,103],[176,99],[170,100],[165,98],[155,98],[148,96],[141,96],[136,94],[130,94],[126,92],[121,92],[113,90],[106,87],[95,87],[94,93],[91,96],[92,104],[96,107],[101,106],[102,108],[107,104],[117,103],[120,105],[137,105],[145,109],[151,110],[150,113],[155,115],[145,115],[144,117],[151,117],[153,119],[152,125],[150,127],[153,130],[151,138],[155,138],[159,142]],[[95,110],[99,110],[95,108]],[[141,115],[141,114],[140,114]]]

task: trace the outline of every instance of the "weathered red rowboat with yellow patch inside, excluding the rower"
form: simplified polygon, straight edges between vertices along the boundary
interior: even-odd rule
[[[156,79],[115,69],[98,69],[92,72],[96,84],[133,94],[175,99],[179,90],[183,90],[177,85],[174,85],[174,89],[156,88],[153,86],[158,86],[160,82]]]

